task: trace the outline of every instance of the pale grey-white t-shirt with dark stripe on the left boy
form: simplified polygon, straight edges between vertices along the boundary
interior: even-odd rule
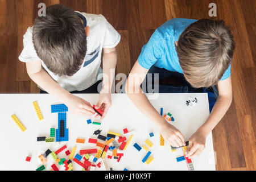
[[[80,13],[79,11],[76,11]],[[87,26],[90,27],[90,34],[87,37],[87,53],[81,68],[72,76],[57,76],[46,67],[43,61],[36,54],[32,43],[32,27],[28,27],[26,34],[23,35],[23,50],[19,55],[22,62],[41,60],[43,68],[49,75],[59,83],[59,85],[72,92],[84,90],[101,80],[102,69],[101,52],[102,48],[113,48],[119,43],[121,36],[104,16],[80,13],[85,16]]]

